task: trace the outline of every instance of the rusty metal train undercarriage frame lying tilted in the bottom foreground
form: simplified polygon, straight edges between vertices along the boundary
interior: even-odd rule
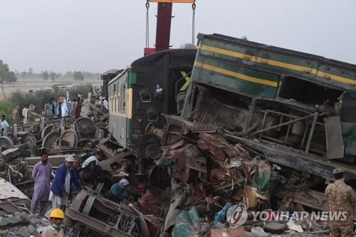
[[[140,214],[133,206],[117,204],[95,191],[81,190],[66,211],[66,225],[73,236],[158,236],[162,221]]]

